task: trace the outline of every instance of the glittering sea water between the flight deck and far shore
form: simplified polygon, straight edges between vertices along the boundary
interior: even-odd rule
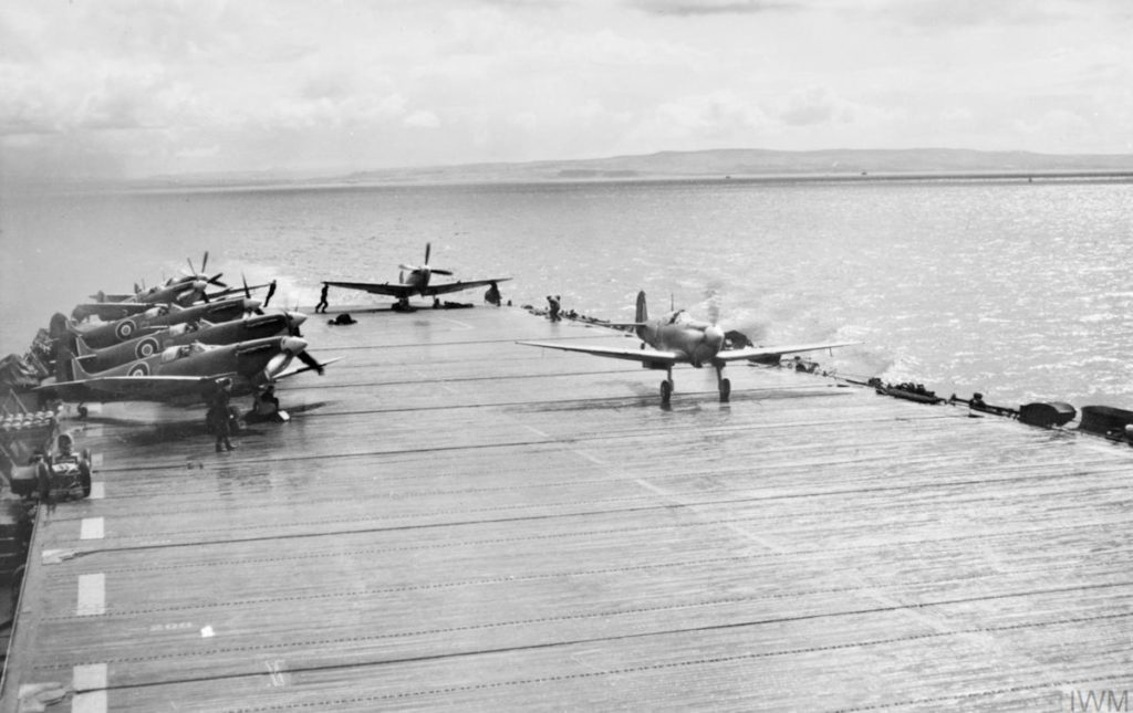
[[[501,291],[516,306],[561,294],[565,309],[627,320],[644,290],[650,312],[687,308],[761,344],[859,341],[815,355],[853,378],[1133,407],[1127,182],[14,192],[2,208],[2,353],[99,290],[199,269],[206,250],[221,281],[275,278],[273,306],[309,310],[321,281],[395,281],[432,243],[432,266],[454,278],[511,277]],[[332,306],[389,301],[331,290]]]

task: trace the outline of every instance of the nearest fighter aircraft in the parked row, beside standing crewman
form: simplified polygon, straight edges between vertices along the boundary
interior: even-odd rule
[[[180,404],[207,398],[220,378],[232,380],[232,394],[257,394],[264,387],[299,371],[323,367],[306,353],[307,342],[283,336],[253,340],[225,346],[199,343],[170,346],[160,354],[139,359],[97,373],[86,372],[73,360],[74,379],[45,380],[36,387],[49,398],[66,402],[159,401]],[[292,359],[305,364],[287,372]],[[330,362],[327,362],[330,363]]]

